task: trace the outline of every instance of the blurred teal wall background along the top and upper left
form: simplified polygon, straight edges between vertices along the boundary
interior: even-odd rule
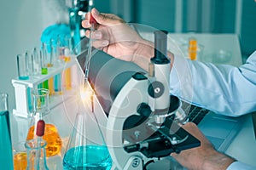
[[[68,24],[68,0],[1,1],[0,91],[15,107],[11,79],[17,77],[16,55],[40,45],[47,26]],[[253,0],[95,0],[102,13],[169,32],[232,33],[239,37],[243,62],[255,50],[256,3]]]

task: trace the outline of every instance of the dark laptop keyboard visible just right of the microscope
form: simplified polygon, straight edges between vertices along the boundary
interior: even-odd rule
[[[201,120],[209,113],[210,111],[201,108],[199,106],[191,105],[187,102],[182,102],[183,111],[189,116],[189,122],[194,122],[198,125]]]

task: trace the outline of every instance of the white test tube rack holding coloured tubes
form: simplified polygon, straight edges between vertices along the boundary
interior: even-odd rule
[[[62,71],[65,71],[67,68],[72,68],[72,71],[77,71],[77,62],[76,56],[71,56],[71,60],[63,65],[58,67],[51,67],[48,69],[47,75],[40,75],[38,77],[30,77],[28,80],[20,80],[18,77],[12,79],[12,84],[15,88],[15,104],[16,108],[13,110],[15,116],[29,118],[32,116],[32,110],[29,108],[29,96],[27,95],[28,89],[38,88],[38,84],[48,80],[50,77],[55,77],[55,75],[61,74]],[[79,72],[75,72],[73,75],[73,86],[76,86],[79,83]],[[67,96],[73,96],[75,90],[70,90],[70,93]],[[61,96],[62,95],[62,96]],[[54,108],[56,105],[60,105],[63,102],[63,94],[50,96],[49,99],[49,109]]]

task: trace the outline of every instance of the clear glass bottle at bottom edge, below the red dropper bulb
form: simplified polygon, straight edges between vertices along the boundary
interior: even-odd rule
[[[45,146],[46,141],[38,139],[32,139],[26,141],[26,170],[48,170],[46,164]]]

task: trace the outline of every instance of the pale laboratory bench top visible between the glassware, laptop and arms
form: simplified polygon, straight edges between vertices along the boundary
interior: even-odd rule
[[[154,35],[148,32],[140,32],[141,35],[151,41],[154,41]],[[212,62],[215,64],[230,64],[241,65],[241,49],[238,37],[234,34],[173,34],[170,33],[168,38],[171,38],[171,43],[168,45],[168,49],[173,51],[173,48],[180,48],[177,53],[186,54],[186,43],[190,37],[195,37],[198,44],[201,45],[201,56],[198,56],[198,60],[205,62]],[[212,59],[216,54],[227,54],[228,59],[216,60]],[[184,55],[185,56],[185,55]],[[73,62],[77,65],[76,62]],[[32,86],[32,85],[31,85]],[[60,95],[61,101],[51,107],[50,116],[52,122],[58,128],[58,131],[62,139],[61,153],[57,156],[47,158],[47,162],[50,169],[61,169],[62,158],[65,154],[67,142],[69,136],[73,130],[74,119],[79,112],[78,98],[79,98],[79,86],[73,88],[73,90],[67,95]],[[100,106],[98,106],[100,107]],[[10,111],[12,112],[12,111]],[[11,114],[11,133],[12,143],[15,144],[26,139],[26,133],[28,131],[29,118],[15,116]],[[253,131],[253,122],[251,114],[245,115],[245,122],[243,122],[241,131],[236,135],[236,138],[230,144],[230,147],[226,150],[226,154],[235,157],[239,161],[256,166],[256,142]]]

